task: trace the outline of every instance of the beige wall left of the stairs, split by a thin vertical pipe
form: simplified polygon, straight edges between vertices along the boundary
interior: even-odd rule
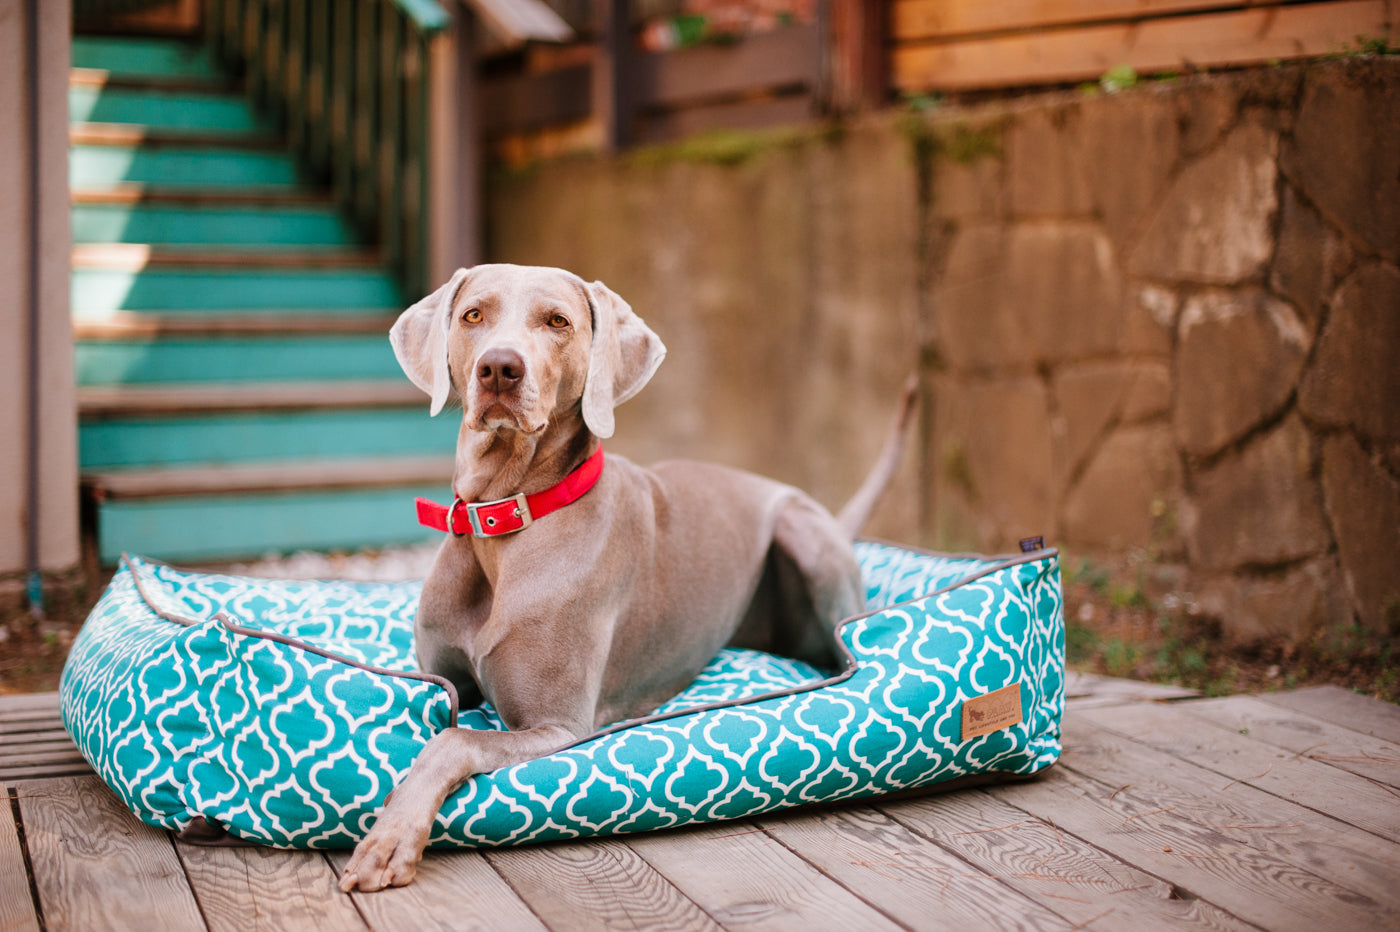
[[[0,0],[0,588],[27,568],[29,505],[29,77],[24,0]],[[39,4],[41,563],[78,561],[77,410],[69,323],[69,3]],[[13,586],[11,586],[13,588]],[[6,596],[7,588],[0,591]]]

